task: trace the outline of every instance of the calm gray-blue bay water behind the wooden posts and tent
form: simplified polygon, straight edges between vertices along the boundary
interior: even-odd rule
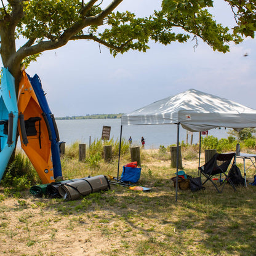
[[[110,138],[114,141],[120,138],[121,119],[68,119],[56,120],[60,141],[71,145],[74,142],[85,143],[93,142],[102,137],[103,126],[110,126]],[[208,135],[214,137],[227,138],[230,129],[212,129]],[[160,145],[169,146],[177,143],[177,125],[162,124],[148,126],[123,126],[122,138],[128,140],[132,137],[132,145],[141,145],[140,139],[145,138],[145,148],[159,148]],[[205,135],[202,135],[205,136]],[[180,142],[186,142],[186,130],[180,126]],[[191,141],[191,135],[188,137],[188,143]],[[199,132],[193,133],[193,144],[199,142]]]

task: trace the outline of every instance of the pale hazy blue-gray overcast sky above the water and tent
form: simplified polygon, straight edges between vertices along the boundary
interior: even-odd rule
[[[234,25],[224,1],[212,10],[218,23]],[[160,9],[161,1],[124,0],[119,10],[140,16]],[[228,98],[256,109],[256,41],[245,39],[230,45],[230,52],[214,52],[199,41],[150,44],[146,53],[130,51],[115,58],[95,42],[76,41],[44,52],[26,70],[35,73],[55,116],[129,113],[156,100],[188,89]],[[244,54],[248,54],[244,57]]]

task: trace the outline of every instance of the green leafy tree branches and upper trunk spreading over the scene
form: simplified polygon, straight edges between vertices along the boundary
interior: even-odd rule
[[[71,40],[95,41],[115,56],[129,50],[145,52],[149,41],[167,45],[192,37],[225,53],[229,42],[237,44],[241,36],[254,38],[256,30],[255,0],[223,0],[234,14],[233,31],[214,20],[209,12],[212,0],[163,0],[162,10],[150,17],[116,11],[122,1],[128,0],[1,0],[0,54],[17,88],[21,66]],[[24,42],[18,49],[17,40]]]

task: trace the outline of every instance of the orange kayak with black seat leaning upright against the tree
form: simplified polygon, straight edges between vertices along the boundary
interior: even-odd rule
[[[38,172],[42,183],[46,184],[55,180],[50,150],[50,128],[42,113],[33,87],[23,71],[18,90],[18,133],[22,149]]]

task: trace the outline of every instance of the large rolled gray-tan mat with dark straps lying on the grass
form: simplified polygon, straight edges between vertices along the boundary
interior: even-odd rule
[[[62,183],[58,187],[58,193],[62,198],[70,201],[78,199],[80,196],[94,193],[100,190],[108,190],[110,183],[104,175],[90,178],[81,178],[71,183]]]

